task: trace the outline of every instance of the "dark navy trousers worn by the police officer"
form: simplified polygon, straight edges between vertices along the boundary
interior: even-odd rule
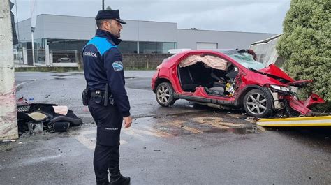
[[[108,182],[108,169],[112,169],[111,173],[119,172],[119,134],[123,117],[115,105],[104,106],[93,97],[89,100],[89,112],[97,126],[93,161],[96,182]]]

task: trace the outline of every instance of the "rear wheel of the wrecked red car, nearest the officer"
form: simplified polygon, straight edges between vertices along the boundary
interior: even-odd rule
[[[156,101],[163,107],[169,107],[176,101],[174,98],[174,90],[168,82],[163,82],[156,87],[155,91]]]

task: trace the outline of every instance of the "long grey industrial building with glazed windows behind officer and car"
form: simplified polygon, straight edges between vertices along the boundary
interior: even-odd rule
[[[256,40],[277,34],[238,31],[178,29],[174,22],[125,20],[119,50],[124,54],[164,54],[170,49],[233,49],[248,48]],[[17,64],[31,64],[30,19],[16,24],[20,50]],[[42,66],[73,65],[80,59],[82,47],[96,32],[94,17],[41,14],[34,30],[35,64]]]

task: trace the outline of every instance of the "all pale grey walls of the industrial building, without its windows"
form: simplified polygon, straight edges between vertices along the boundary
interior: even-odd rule
[[[248,48],[256,40],[263,40],[276,34],[248,33],[235,31],[207,31],[177,29],[177,23],[125,20],[121,38],[134,42],[172,42],[177,48],[195,50],[197,43],[216,43],[219,49]],[[19,22],[20,41],[31,40],[30,20]],[[38,38],[62,40],[89,40],[96,31],[94,17],[66,15],[38,15],[35,40]],[[205,44],[206,45],[206,44]],[[79,48],[78,50],[80,50]]]

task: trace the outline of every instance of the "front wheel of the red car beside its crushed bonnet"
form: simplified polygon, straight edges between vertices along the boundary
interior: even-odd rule
[[[244,96],[244,110],[252,117],[267,117],[272,111],[272,100],[260,89],[253,89]]]

